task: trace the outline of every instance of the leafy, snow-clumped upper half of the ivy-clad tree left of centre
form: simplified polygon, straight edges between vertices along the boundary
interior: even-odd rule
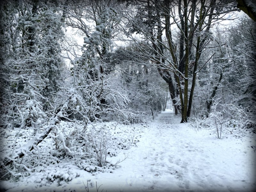
[[[115,10],[105,8],[96,20],[95,31],[91,36],[84,37],[83,55],[72,68],[72,73],[77,77],[77,84],[86,84],[84,81],[88,78],[100,81],[110,69],[108,63],[113,52],[112,24],[115,17]]]

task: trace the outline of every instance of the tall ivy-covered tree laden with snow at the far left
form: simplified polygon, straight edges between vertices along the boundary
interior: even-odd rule
[[[18,4],[16,14],[23,14],[20,17],[15,15],[12,20],[14,27],[9,28],[18,35],[12,39],[16,42],[8,44],[13,49],[10,54],[15,54],[15,57],[10,56],[4,62],[5,67],[9,66],[5,69],[4,79],[8,84],[4,92],[9,94],[5,108],[9,107],[8,112],[12,112],[7,112],[6,117],[20,116],[20,123],[15,125],[31,127],[35,132],[40,132],[49,116],[47,103],[58,87],[62,65],[58,54],[64,34],[58,10],[50,3],[42,4],[42,8],[37,8],[37,3],[29,4],[25,10],[24,4]]]

